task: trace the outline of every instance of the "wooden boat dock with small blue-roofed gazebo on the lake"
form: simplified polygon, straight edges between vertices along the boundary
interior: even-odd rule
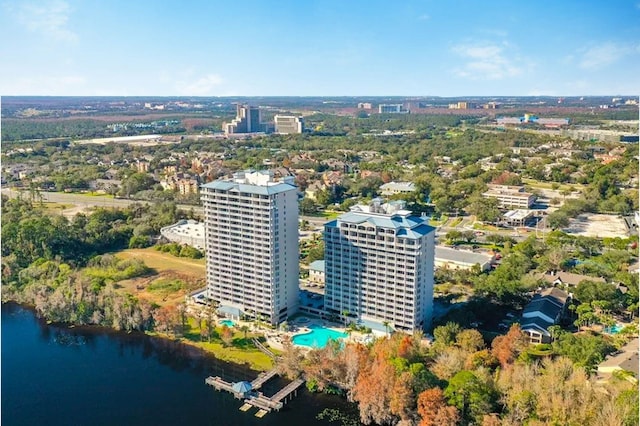
[[[258,377],[251,382],[230,383],[218,376],[207,377],[204,382],[209,386],[213,386],[216,390],[226,391],[237,399],[243,399],[244,404],[240,407],[240,410],[248,411],[250,407],[253,406],[258,408],[256,416],[263,417],[273,410],[279,411],[284,404],[287,403],[287,399],[290,401],[291,398],[298,395],[298,388],[304,383],[304,380],[296,379],[271,397],[265,396],[262,392],[258,391],[262,385],[277,375],[277,371],[273,369],[260,373]]]

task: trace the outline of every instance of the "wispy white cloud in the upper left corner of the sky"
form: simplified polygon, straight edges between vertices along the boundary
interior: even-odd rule
[[[8,12],[29,31],[56,41],[75,42],[78,35],[69,29],[71,7],[63,0],[20,2]]]

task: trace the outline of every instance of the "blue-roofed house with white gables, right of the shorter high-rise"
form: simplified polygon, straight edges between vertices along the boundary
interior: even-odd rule
[[[522,312],[520,327],[531,343],[550,343],[549,327],[556,325],[564,315],[571,295],[550,287],[536,294]]]

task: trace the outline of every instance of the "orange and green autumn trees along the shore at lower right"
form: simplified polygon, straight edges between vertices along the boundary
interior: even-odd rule
[[[594,386],[589,377],[614,350],[612,340],[564,333],[553,345],[530,347],[517,324],[490,344],[455,323],[436,327],[434,336],[432,345],[420,333],[369,345],[330,342],[306,356],[288,344],[279,366],[291,378],[304,376],[312,391],[345,394],[365,424],[638,422],[637,382]]]

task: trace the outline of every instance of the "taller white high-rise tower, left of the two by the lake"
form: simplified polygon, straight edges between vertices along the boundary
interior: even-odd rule
[[[298,306],[298,196],[293,177],[245,171],[201,187],[207,290],[219,311],[277,324]]]

